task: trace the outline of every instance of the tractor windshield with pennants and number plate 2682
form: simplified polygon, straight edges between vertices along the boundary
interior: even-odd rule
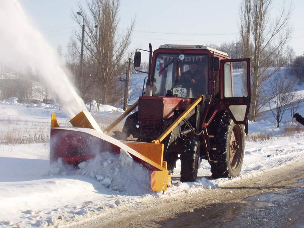
[[[152,96],[197,98],[207,94],[208,55],[158,54]]]

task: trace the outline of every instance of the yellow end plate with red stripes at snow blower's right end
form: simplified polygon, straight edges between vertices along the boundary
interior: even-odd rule
[[[171,186],[171,176],[169,176],[168,170],[151,173],[151,189],[153,191],[165,191],[168,186]]]

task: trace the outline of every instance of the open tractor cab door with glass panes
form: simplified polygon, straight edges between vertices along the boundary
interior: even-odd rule
[[[250,107],[250,60],[221,61],[223,103],[236,124],[247,127]]]

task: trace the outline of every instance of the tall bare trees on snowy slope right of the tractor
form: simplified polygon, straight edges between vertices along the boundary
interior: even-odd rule
[[[303,59],[297,57],[293,61],[293,50],[287,46],[291,36],[291,6],[283,5],[272,21],[272,4],[272,0],[243,0],[239,33],[241,57],[251,61],[252,105],[249,119],[256,121],[259,111],[268,106],[279,127],[287,108],[290,107],[292,117],[302,99],[295,92],[295,80],[287,75],[291,73],[303,77]],[[290,72],[286,69],[279,72],[286,66],[291,67]]]

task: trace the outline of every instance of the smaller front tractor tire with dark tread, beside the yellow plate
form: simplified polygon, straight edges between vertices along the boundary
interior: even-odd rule
[[[196,137],[185,140],[184,151],[180,155],[180,181],[192,182],[197,178],[200,161],[199,141]]]

